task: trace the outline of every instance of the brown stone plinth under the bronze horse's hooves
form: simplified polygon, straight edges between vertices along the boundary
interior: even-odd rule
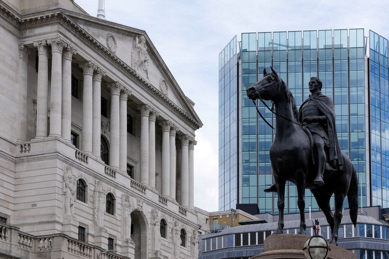
[[[251,259],[305,259],[302,247],[308,236],[296,234],[271,235],[265,239],[265,252]],[[356,259],[356,255],[346,249],[330,244],[329,259]]]

